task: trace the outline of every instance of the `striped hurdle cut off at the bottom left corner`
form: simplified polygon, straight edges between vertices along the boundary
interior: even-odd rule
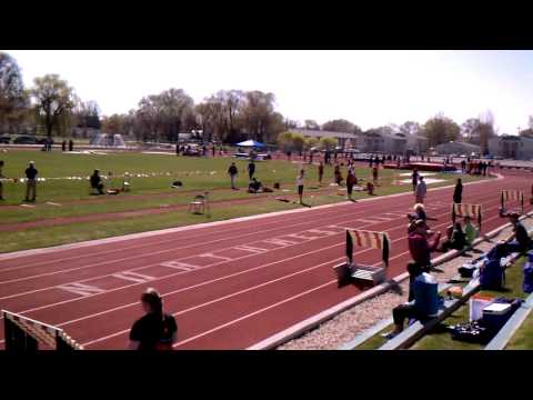
[[[62,329],[7,310],[2,314],[7,351],[37,351],[40,344],[62,352],[83,350]]]

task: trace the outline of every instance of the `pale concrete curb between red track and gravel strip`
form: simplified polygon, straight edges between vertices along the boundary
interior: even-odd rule
[[[477,183],[477,182],[474,182],[474,183]],[[533,214],[533,211],[527,213],[525,217],[522,217],[522,219],[526,218],[527,216],[531,216]],[[511,227],[511,223],[507,222],[492,231],[490,231],[489,233],[485,234],[486,238],[493,238],[495,236],[497,236],[501,231],[505,230],[506,228]],[[477,238],[474,240],[474,242],[472,243],[472,246],[477,246],[479,243],[481,243],[482,241],[484,241],[485,239],[484,238]],[[440,266],[462,253],[464,253],[466,250],[462,250],[462,251],[457,251],[457,250],[452,250],[452,251],[449,251],[447,253],[445,254],[442,254],[442,256],[439,256],[436,257],[435,259],[432,260],[432,264],[433,266]],[[292,327],[289,327],[288,329],[279,332],[279,333],[275,333],[251,347],[249,347],[247,350],[270,350],[270,349],[274,349],[276,348],[278,346],[282,344],[282,343],[285,343],[288,342],[289,340],[291,339],[294,339],[294,338],[298,338],[300,336],[302,336],[303,333],[305,332],[309,332],[310,330],[319,327],[321,323],[336,317],[338,314],[340,314],[341,312],[363,302],[363,301],[366,301],[369,299],[372,299],[379,294],[382,294],[386,291],[389,291],[392,287],[403,282],[405,279],[409,279],[409,272],[404,272],[402,274],[399,274],[396,277],[394,277],[391,281],[389,282],[385,282],[385,283],[381,283],[372,289],[369,289],[351,299],[348,299],[336,306],[333,306],[313,317],[310,317],[299,323],[295,323],[293,324]]]

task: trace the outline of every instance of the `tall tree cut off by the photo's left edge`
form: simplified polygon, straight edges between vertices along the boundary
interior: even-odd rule
[[[20,123],[28,108],[22,76],[17,61],[9,54],[0,52],[0,131],[8,126]]]

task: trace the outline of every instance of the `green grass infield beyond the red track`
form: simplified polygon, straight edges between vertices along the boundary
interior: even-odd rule
[[[230,158],[191,158],[173,154],[147,154],[133,152],[110,152],[107,154],[77,154],[60,151],[42,152],[29,150],[10,150],[0,152],[0,160],[6,162],[3,176],[7,178],[23,178],[24,169],[30,160],[36,162],[39,177],[44,181],[38,183],[38,198],[34,208],[20,207],[26,193],[22,182],[4,181],[3,194],[6,201],[0,203],[0,227],[4,223],[40,221],[51,218],[72,218],[109,212],[135,211],[159,209],[169,206],[187,204],[197,192],[210,191],[210,200],[215,204],[221,200],[257,199],[257,204],[245,203],[232,207],[227,203],[219,206],[209,220],[228,219],[239,216],[249,216],[270,211],[285,210],[299,207],[292,203],[274,201],[265,194],[249,194],[248,161],[235,161],[239,169],[238,184],[242,190],[230,189],[227,170],[233,159]],[[128,193],[114,196],[91,196],[87,177],[94,169],[100,169],[102,176],[111,172],[105,180],[105,187],[120,188],[122,176],[129,172],[132,190]],[[288,161],[259,161],[255,176],[266,187],[280,182],[282,191],[275,196],[286,196],[295,199],[295,177],[299,164]],[[310,206],[319,206],[344,200],[345,191],[330,187],[333,180],[333,168],[326,167],[323,187],[318,190],[318,169],[315,166],[304,164],[305,197]],[[406,171],[380,170],[380,187],[378,196],[386,196],[410,191],[411,186],[392,184],[395,174]],[[149,178],[138,174],[151,174]],[[369,179],[369,168],[358,168],[359,179]],[[343,170],[345,176],[345,169]],[[81,177],[82,180],[68,179]],[[445,179],[444,182],[431,184],[434,188],[453,183],[453,174],[436,174],[435,178]],[[462,177],[463,181],[476,180],[474,177]],[[181,180],[183,187],[172,189],[171,183]],[[316,188],[316,189],[314,189]],[[365,192],[355,192],[354,198],[368,198]],[[48,204],[54,202],[61,206]],[[10,207],[4,207],[10,206]],[[0,231],[0,252],[31,249],[62,244],[88,239],[105,238],[124,233],[177,227],[205,221],[205,217],[190,216],[187,211],[175,210],[158,216],[140,216],[113,221],[68,223],[57,227],[29,228],[22,231]]]

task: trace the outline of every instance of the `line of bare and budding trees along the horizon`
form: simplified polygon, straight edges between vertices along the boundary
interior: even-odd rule
[[[0,52],[0,132],[71,136],[72,128],[102,129],[107,133],[133,136],[139,141],[177,142],[179,133],[201,131],[207,141],[234,143],[245,139],[305,149],[331,143],[301,139],[294,128],[334,132],[363,133],[355,123],[334,119],[319,124],[308,119],[300,124],[275,110],[275,96],[259,90],[220,90],[195,104],[183,89],[168,89],[143,97],[127,113],[102,116],[95,101],[82,101],[69,83],[58,74],[36,78],[24,88],[17,61]],[[442,113],[421,124],[406,121],[365,132],[419,134],[434,147],[455,140],[479,144],[487,150],[489,139],[496,134],[492,112],[470,118],[461,126]],[[289,137],[292,134],[291,140]],[[521,136],[533,138],[533,117]],[[295,139],[294,139],[295,138]],[[303,138],[303,137],[302,137]],[[288,144],[291,143],[291,144]]]

